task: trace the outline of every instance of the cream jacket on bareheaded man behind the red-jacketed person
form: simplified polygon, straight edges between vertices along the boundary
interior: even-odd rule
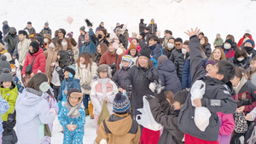
[[[29,50],[29,44],[31,43],[31,40],[29,39],[24,39],[22,42],[18,43],[18,55],[19,55],[19,64],[23,66],[24,60],[26,59],[26,55]]]

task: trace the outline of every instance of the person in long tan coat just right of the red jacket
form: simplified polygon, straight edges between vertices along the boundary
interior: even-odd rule
[[[44,55],[46,57],[45,74],[49,78],[49,83],[51,82],[51,72],[55,66],[57,54],[60,50],[66,49],[63,48],[60,38],[54,37],[52,38],[51,43],[49,43],[49,48],[46,51],[44,51]]]

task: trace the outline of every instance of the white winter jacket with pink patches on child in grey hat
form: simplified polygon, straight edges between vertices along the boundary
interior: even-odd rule
[[[108,112],[113,114],[113,99],[119,92],[119,89],[109,78],[98,78],[93,82],[90,91],[90,100],[93,105],[93,114],[100,115],[102,112],[102,104],[104,99],[107,97]]]

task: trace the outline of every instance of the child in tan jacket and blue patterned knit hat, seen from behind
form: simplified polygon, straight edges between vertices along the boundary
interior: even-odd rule
[[[141,130],[137,121],[131,119],[130,101],[127,96],[118,93],[113,99],[113,114],[102,121],[94,144],[100,144],[102,139],[109,144],[137,144]]]

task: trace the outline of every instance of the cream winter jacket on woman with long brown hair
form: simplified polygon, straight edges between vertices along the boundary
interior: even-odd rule
[[[97,65],[95,62],[92,62],[92,65],[88,64],[87,67],[86,65],[83,65],[80,63],[80,66],[76,64],[76,75],[75,78],[80,79],[80,85],[82,89],[82,93],[85,95],[90,95],[90,89],[84,89],[83,85],[88,85],[91,87],[93,80],[92,78],[96,76],[96,69]]]

